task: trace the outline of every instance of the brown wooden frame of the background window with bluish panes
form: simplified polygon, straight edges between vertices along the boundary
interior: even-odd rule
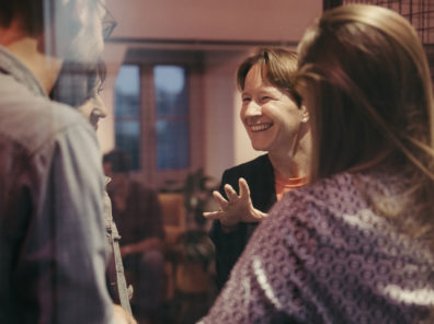
[[[124,65],[139,67],[140,78],[140,138],[139,170],[132,176],[144,183],[161,188],[167,181],[183,182],[187,174],[204,165],[204,100],[203,100],[203,53],[191,50],[130,49]],[[182,170],[157,169],[156,92],[153,84],[155,66],[181,66],[186,70],[189,89],[190,165]]]

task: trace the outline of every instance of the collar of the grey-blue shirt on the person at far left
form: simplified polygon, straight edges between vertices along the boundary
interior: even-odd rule
[[[42,86],[32,71],[9,49],[0,45],[0,72],[10,74],[18,82],[24,84],[35,95],[47,96],[45,89]]]

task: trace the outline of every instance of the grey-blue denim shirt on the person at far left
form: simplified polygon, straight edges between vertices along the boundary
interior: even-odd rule
[[[94,130],[0,47],[0,323],[111,323]]]

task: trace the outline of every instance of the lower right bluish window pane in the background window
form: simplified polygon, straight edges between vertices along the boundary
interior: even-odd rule
[[[178,170],[189,167],[189,121],[157,121],[157,167]]]

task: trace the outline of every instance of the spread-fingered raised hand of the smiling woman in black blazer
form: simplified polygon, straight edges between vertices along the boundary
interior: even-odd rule
[[[249,185],[244,178],[238,181],[240,195],[226,184],[225,193],[228,196],[226,200],[219,192],[213,192],[214,200],[218,202],[218,211],[204,212],[205,218],[218,219],[226,231],[233,230],[239,222],[258,222],[266,217],[266,213],[255,209],[250,198]]]

